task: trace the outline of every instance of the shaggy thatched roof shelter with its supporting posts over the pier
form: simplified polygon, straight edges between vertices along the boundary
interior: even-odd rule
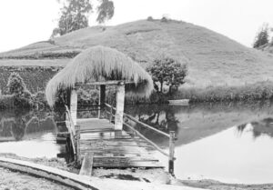
[[[128,56],[115,49],[94,46],[77,55],[47,84],[45,94],[49,105],[56,102],[59,90],[70,90],[70,111],[76,124],[76,88],[80,84],[99,85],[99,105],[104,105],[106,85],[116,85],[115,128],[122,126],[126,95],[148,96],[153,90],[150,75]]]

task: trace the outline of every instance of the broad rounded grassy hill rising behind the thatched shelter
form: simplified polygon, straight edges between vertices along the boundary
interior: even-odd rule
[[[140,20],[89,27],[1,53],[0,65],[63,66],[93,45],[114,47],[144,67],[160,55],[170,55],[187,63],[186,86],[204,88],[273,81],[273,55],[180,21]]]

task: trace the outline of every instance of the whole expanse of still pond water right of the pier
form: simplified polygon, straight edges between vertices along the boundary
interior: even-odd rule
[[[177,135],[175,175],[182,179],[216,179],[227,183],[273,183],[273,106],[201,104],[127,107],[126,113]],[[136,125],[163,148],[168,140]],[[156,154],[167,166],[167,157]]]

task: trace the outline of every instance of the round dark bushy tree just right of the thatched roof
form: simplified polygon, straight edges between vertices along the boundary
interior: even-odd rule
[[[182,65],[175,59],[165,57],[156,59],[147,71],[153,76],[155,89],[159,92],[157,82],[160,84],[160,92],[163,92],[163,85],[169,86],[168,93],[172,93],[172,87],[183,85],[187,75],[187,65]]]

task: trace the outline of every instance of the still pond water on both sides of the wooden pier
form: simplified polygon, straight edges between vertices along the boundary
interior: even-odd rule
[[[190,106],[141,105],[126,113],[177,135],[175,175],[181,179],[215,179],[227,183],[273,183],[273,105],[217,104]],[[25,157],[56,157],[53,113],[2,113],[0,153]],[[168,139],[135,127],[166,149]],[[167,166],[167,157],[155,153]]]

